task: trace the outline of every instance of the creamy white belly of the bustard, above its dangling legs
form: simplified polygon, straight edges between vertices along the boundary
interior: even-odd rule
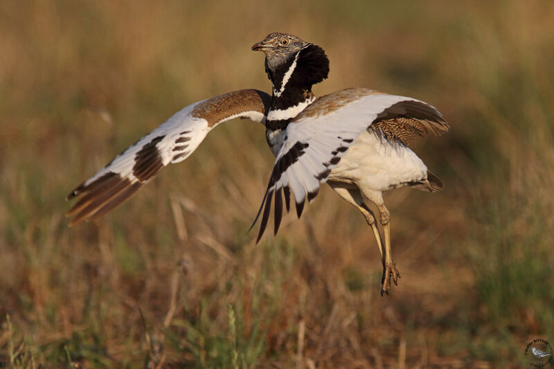
[[[355,183],[384,191],[427,178],[427,167],[408,147],[362,132],[346,151],[330,181]]]

